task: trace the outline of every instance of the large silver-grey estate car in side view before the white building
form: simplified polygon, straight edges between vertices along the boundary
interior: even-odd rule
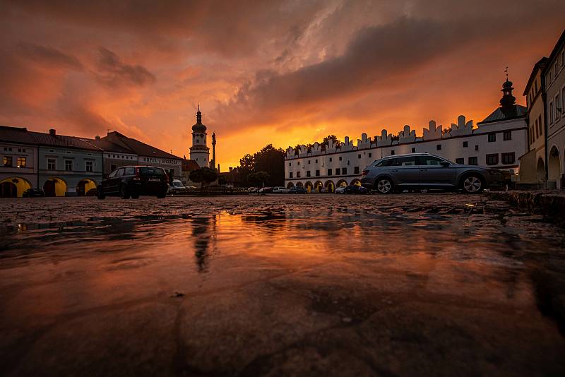
[[[378,193],[426,188],[480,193],[504,180],[499,169],[455,164],[429,153],[384,157],[366,167],[361,175],[362,185]]]

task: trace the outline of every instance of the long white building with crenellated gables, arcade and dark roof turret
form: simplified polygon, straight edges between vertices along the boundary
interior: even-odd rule
[[[528,126],[525,107],[513,104],[511,82],[503,84],[502,106],[474,128],[460,115],[457,124],[444,129],[429,121],[422,136],[410,126],[394,137],[386,130],[371,139],[363,133],[357,145],[345,137],[337,147],[333,140],[322,149],[314,143],[308,150],[301,145],[285,155],[285,186],[303,186],[307,191],[333,192],[335,187],[355,184],[368,164],[381,157],[411,152],[429,152],[460,164],[478,164],[518,173],[518,157],[528,152]]]

